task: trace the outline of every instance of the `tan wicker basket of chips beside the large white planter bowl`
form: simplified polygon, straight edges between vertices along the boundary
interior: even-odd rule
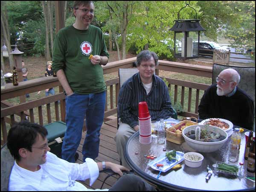
[[[190,117],[189,119],[191,120],[191,119],[196,119],[196,118],[195,118],[195,117]],[[176,144],[181,144],[181,143],[183,143],[185,140],[184,140],[182,134],[181,134],[181,133],[180,133],[180,134],[177,134],[177,133],[174,133],[174,132],[172,132],[172,131],[178,130],[178,129],[180,129],[182,126],[184,126],[184,125],[186,125],[186,124],[189,124],[189,125],[198,125],[197,119],[196,119],[196,122],[193,122],[193,121],[190,121],[190,120],[181,121],[180,123],[178,123],[178,124],[176,124],[176,125],[174,125],[174,126],[168,128],[168,129],[166,129],[166,140],[167,140],[167,141],[170,141],[170,142],[172,142],[172,143],[176,143]],[[187,126],[189,126],[189,125],[187,125]],[[187,126],[186,126],[186,127],[187,127]]]

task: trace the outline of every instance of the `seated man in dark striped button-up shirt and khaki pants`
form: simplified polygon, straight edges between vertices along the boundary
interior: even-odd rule
[[[124,157],[124,148],[128,139],[139,130],[138,104],[147,102],[152,121],[169,119],[175,116],[165,82],[154,75],[158,57],[155,52],[141,51],[137,55],[136,73],[121,87],[118,96],[119,128],[114,140],[122,165],[128,167]]]

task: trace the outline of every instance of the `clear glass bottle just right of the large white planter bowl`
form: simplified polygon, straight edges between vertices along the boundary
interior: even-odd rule
[[[236,162],[238,160],[239,139],[241,141],[241,137],[239,136],[239,129],[238,129],[238,131],[235,130],[231,136],[230,152],[228,157],[228,160],[230,162]]]

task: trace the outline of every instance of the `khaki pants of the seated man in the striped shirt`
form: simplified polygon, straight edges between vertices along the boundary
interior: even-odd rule
[[[125,161],[125,144],[135,132],[136,131],[133,128],[131,128],[130,125],[120,122],[119,128],[116,132],[116,137],[114,137],[114,140],[116,141],[116,150],[119,154],[120,160],[122,161],[122,166],[125,166],[128,169],[131,168]]]

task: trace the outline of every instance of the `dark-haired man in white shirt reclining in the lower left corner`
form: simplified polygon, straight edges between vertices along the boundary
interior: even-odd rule
[[[7,147],[15,159],[9,177],[9,191],[89,191],[76,180],[90,179],[92,186],[103,169],[111,169],[122,176],[109,191],[156,191],[134,174],[123,175],[122,171],[128,171],[124,166],[111,162],[96,163],[90,158],[82,164],[58,158],[49,152],[47,134],[45,127],[28,121],[19,122],[9,130]]]

